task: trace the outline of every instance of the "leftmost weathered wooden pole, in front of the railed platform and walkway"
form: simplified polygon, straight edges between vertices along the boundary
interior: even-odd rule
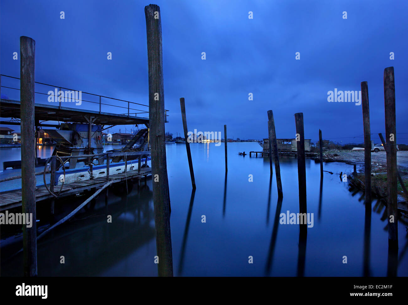
[[[35,41],[20,37],[20,113],[22,212],[31,218],[31,228],[23,225],[24,276],[37,276],[37,216],[35,212],[34,138]]]

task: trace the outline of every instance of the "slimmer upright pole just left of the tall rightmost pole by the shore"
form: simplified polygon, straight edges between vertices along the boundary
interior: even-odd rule
[[[371,131],[367,82],[361,82],[361,107],[363,108],[364,126],[364,189],[366,193],[366,210],[371,211]]]

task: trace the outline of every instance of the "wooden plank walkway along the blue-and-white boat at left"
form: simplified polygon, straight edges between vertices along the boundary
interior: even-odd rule
[[[137,172],[137,170],[129,170],[126,173],[121,172],[115,175],[109,175],[109,181],[113,180],[114,181],[113,183],[117,183],[129,179],[135,178],[140,179],[143,176],[147,175],[151,175],[150,167],[141,168],[140,172]],[[91,190],[92,188],[99,188],[103,186],[106,182],[108,182],[108,180],[106,180],[106,177],[100,177],[95,178],[93,180],[67,183],[64,184],[64,186],[62,187],[62,191],[60,193],[58,193],[58,190],[60,190],[61,186],[55,186],[54,192],[55,194],[58,194],[58,198],[61,198],[73,194],[79,194],[84,192],[85,190]],[[22,206],[21,196],[22,196],[21,190],[0,194],[0,211]],[[53,196],[47,191],[45,186],[37,188],[35,190],[36,202],[45,199],[51,199],[52,197]]]

